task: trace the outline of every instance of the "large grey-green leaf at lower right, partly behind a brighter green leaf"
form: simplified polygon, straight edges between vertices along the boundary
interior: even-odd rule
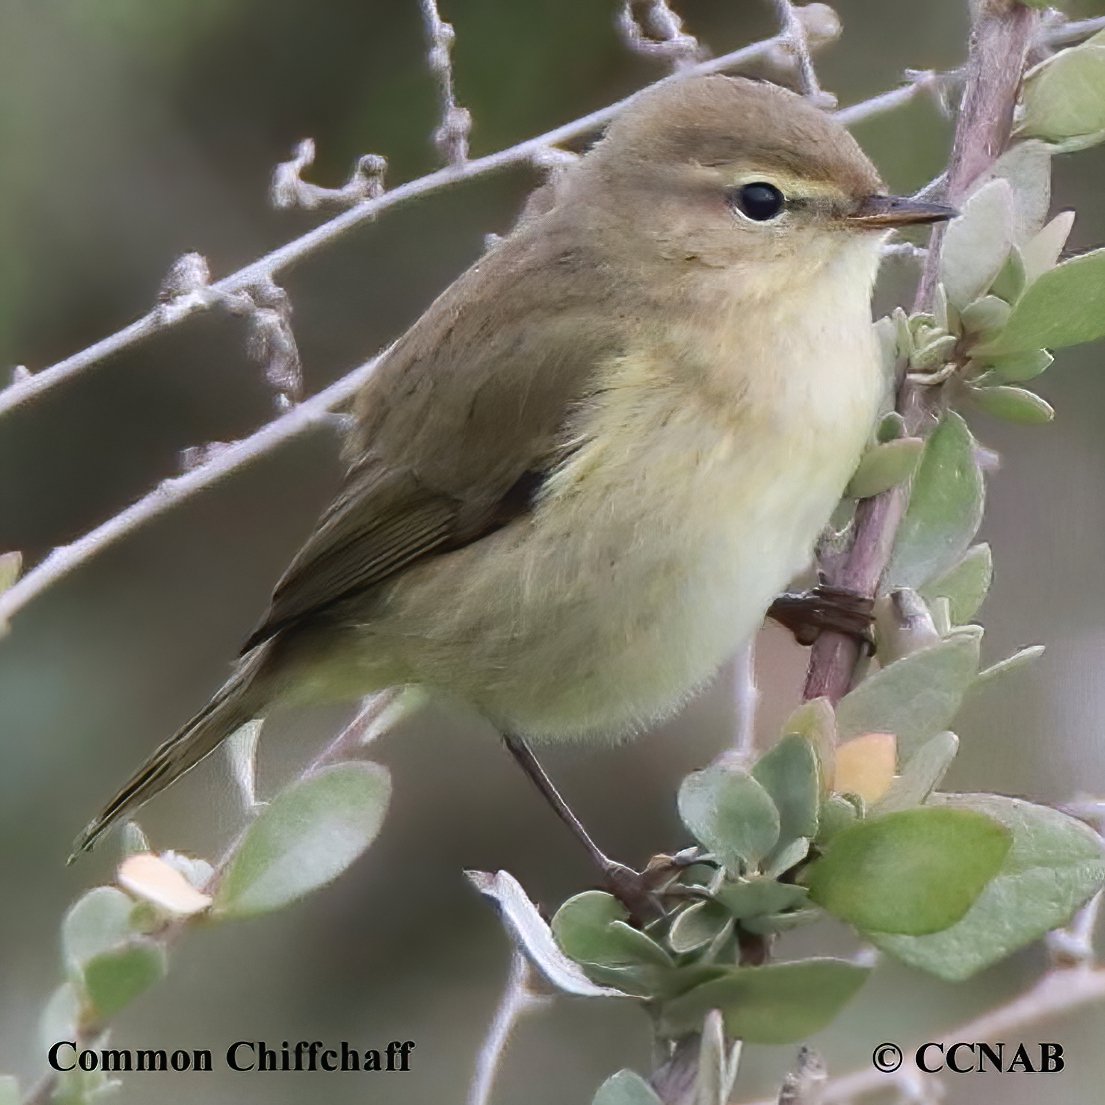
[[[969,978],[1065,924],[1105,883],[1101,838],[1057,810],[1000,794],[935,794],[932,801],[999,821],[1012,848],[950,928],[929,936],[867,934],[903,962],[951,981]]]

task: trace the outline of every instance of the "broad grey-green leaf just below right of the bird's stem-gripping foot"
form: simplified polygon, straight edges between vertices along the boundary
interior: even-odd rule
[[[893,733],[898,756],[912,756],[956,716],[978,673],[978,632],[956,630],[869,675],[836,707],[841,740]]]

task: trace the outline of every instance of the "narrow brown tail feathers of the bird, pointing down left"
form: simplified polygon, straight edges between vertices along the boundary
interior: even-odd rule
[[[266,652],[265,648],[255,649],[245,656],[211,701],[135,771],[74,841],[70,863],[82,852],[90,851],[116,821],[176,782],[235,729],[256,716],[264,705],[264,698],[257,693],[256,676]]]

